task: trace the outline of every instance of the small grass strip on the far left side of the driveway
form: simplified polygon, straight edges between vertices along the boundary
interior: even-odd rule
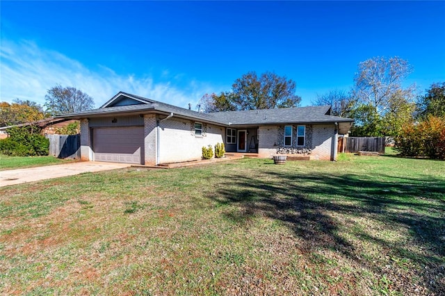
[[[40,167],[42,165],[58,165],[71,160],[54,156],[6,156],[0,154],[0,170],[14,170],[24,167]]]

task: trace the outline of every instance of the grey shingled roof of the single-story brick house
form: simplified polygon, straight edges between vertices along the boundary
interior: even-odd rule
[[[124,102],[124,103],[123,103]],[[125,104],[124,106],[119,106]],[[58,117],[67,119],[81,119],[106,115],[130,115],[134,113],[173,113],[176,117],[191,120],[216,123],[223,126],[249,126],[262,124],[300,124],[300,123],[351,123],[350,118],[330,115],[330,106],[309,106],[300,108],[259,109],[248,111],[227,111],[218,113],[198,113],[193,110],[154,101],[135,94],[119,92],[100,108],[70,113]]]

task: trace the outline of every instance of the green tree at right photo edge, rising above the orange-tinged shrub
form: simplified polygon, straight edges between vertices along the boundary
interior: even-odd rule
[[[426,94],[419,98],[419,109],[419,115],[424,118],[428,115],[445,116],[445,82],[432,83]]]

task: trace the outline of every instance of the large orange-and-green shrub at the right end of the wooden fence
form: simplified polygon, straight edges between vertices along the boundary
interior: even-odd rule
[[[403,127],[396,137],[396,151],[402,156],[445,159],[445,117],[429,116]]]

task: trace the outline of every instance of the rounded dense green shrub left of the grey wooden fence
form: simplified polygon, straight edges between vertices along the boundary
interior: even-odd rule
[[[10,156],[44,156],[49,153],[49,140],[35,126],[8,129],[9,138],[0,140],[0,153]]]

